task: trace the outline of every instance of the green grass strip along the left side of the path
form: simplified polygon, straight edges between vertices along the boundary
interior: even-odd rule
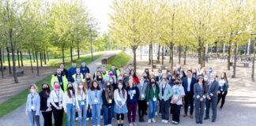
[[[104,54],[95,54],[93,55],[93,59],[97,59],[101,56],[103,56]],[[91,56],[86,56],[86,57],[81,57],[80,60],[76,60],[77,61],[77,65],[81,65],[81,61],[86,61],[87,65],[89,63],[92,62],[91,60]],[[51,65],[58,65],[59,62],[55,61],[55,64],[51,64]],[[68,64],[66,64],[66,69],[70,68],[71,63],[69,61]],[[38,82],[36,82],[36,86],[41,87],[41,83],[43,82],[47,82],[47,83],[51,83],[51,75],[45,77],[43,80],[40,80]],[[12,112],[14,109],[17,109],[19,106],[22,106],[26,100],[27,100],[27,96],[28,96],[28,89],[25,89],[24,91],[21,91],[21,93],[13,96],[12,98],[9,98],[6,102],[2,102],[2,104],[0,104],[0,117],[3,117],[4,115],[6,115],[7,113]]]

